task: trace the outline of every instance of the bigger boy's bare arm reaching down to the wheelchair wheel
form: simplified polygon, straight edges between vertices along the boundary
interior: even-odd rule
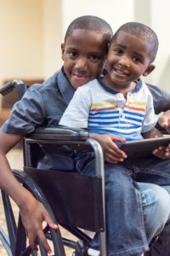
[[[54,224],[45,207],[27,189],[20,186],[11,172],[6,158],[8,151],[19,143],[22,137],[22,135],[7,134],[0,131],[0,188],[4,189],[20,207],[22,222],[26,228],[26,235],[31,248],[37,249],[35,239],[39,236],[43,247],[49,252],[50,247],[42,230],[42,222],[46,221],[54,229],[57,229],[57,225]]]

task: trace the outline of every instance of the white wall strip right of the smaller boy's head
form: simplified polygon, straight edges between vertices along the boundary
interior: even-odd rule
[[[156,70],[153,81],[170,92],[170,2],[169,0],[151,1],[151,24],[158,35],[160,45],[156,57]]]

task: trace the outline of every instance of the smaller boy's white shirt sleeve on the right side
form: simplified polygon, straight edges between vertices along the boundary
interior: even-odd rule
[[[153,107],[153,98],[149,94],[148,101],[146,106],[146,113],[144,116],[144,122],[142,125],[142,133],[150,131],[152,128],[156,126],[157,116]]]

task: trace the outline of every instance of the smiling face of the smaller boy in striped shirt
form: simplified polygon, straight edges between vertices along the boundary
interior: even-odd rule
[[[127,32],[119,32],[112,41],[106,60],[109,75],[104,79],[112,89],[126,89],[131,82],[148,75],[155,67],[150,64],[153,45]]]

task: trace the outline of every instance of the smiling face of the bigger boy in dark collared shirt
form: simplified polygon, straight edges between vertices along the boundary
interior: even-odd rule
[[[101,33],[75,29],[61,50],[65,74],[74,88],[102,73],[107,45]]]

